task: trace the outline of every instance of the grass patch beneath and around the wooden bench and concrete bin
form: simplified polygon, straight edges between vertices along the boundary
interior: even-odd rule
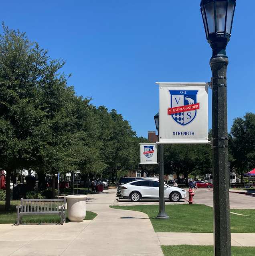
[[[0,201],[0,224],[16,223],[16,206],[20,205],[19,200],[11,201],[11,210],[4,211],[5,201]],[[94,219],[97,216],[96,213],[86,211],[86,219]],[[69,222],[66,211],[66,222]],[[58,215],[34,215],[23,216],[23,223],[61,223],[61,218]]]

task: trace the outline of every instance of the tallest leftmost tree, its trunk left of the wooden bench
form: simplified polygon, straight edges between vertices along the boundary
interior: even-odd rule
[[[0,166],[6,176],[6,210],[10,209],[10,175],[34,163],[35,138],[44,113],[38,90],[45,76],[47,51],[20,31],[4,27],[0,35]]]

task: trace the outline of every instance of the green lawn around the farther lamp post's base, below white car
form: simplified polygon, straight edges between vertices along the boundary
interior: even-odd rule
[[[150,217],[155,232],[213,232],[213,209],[206,205],[166,205],[169,220],[156,219],[158,205],[110,206],[115,209],[142,211]],[[255,209],[231,210],[249,216],[230,214],[231,233],[255,233]]]

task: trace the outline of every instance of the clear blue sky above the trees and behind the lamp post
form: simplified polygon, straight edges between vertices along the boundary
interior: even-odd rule
[[[155,82],[209,82],[211,48],[200,0],[8,0],[1,19],[10,29],[63,58],[69,85],[96,106],[116,109],[137,135],[155,131]],[[254,111],[255,1],[237,0],[227,45],[228,128]],[[2,33],[0,28],[0,33]],[[211,91],[209,90],[209,128]]]

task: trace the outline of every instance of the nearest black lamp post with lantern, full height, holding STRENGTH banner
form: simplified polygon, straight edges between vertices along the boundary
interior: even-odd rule
[[[214,254],[231,256],[229,156],[227,133],[226,46],[231,36],[236,0],[201,0],[206,39],[212,47],[212,160]]]

